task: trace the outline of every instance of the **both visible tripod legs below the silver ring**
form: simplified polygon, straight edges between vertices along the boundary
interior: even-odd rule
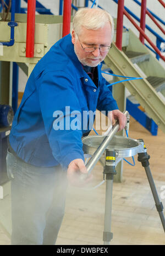
[[[142,144],[144,144],[142,139],[139,139],[139,141]],[[163,205],[158,197],[155,183],[153,181],[153,177],[151,174],[151,170],[149,166],[150,156],[147,154],[147,149],[145,148],[145,146],[144,146],[144,150],[142,151],[144,152],[138,153],[138,161],[141,162],[142,166],[145,168],[147,179],[149,181],[152,195],[155,200],[156,209],[158,211],[158,214],[160,215],[162,226],[165,232]],[[105,162],[104,171],[103,171],[103,174],[106,177],[105,225],[104,225],[104,231],[103,231],[104,244],[110,244],[110,241],[113,238],[113,233],[111,232],[111,216],[112,216],[113,176],[116,175],[115,162],[116,162],[116,151],[106,150],[106,162]]]

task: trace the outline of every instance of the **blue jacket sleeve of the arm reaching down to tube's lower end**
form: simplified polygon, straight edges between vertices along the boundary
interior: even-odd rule
[[[74,159],[84,160],[81,109],[73,79],[62,71],[47,72],[41,78],[38,95],[45,132],[54,158],[67,168]],[[70,113],[74,111],[71,116],[66,106]],[[74,126],[75,118],[78,126]]]

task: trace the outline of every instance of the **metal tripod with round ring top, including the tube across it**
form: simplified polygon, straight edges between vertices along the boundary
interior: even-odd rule
[[[124,115],[127,117],[127,122],[129,122],[128,111],[125,111]],[[160,215],[160,219],[165,232],[163,205],[160,202],[160,199],[158,198],[155,183],[152,178],[152,174],[149,166],[150,156],[147,154],[147,149],[144,145],[144,141],[142,139],[134,140],[134,139],[125,138],[121,136],[118,136],[118,137],[114,136],[114,134],[117,133],[118,129],[119,129],[119,123],[117,122],[113,126],[112,131],[109,132],[103,138],[99,136],[96,136],[96,137],[87,136],[83,138],[84,153],[92,155],[91,159],[86,164],[86,168],[88,172],[90,172],[92,168],[94,168],[98,160],[100,160],[101,156],[105,154],[105,161],[102,161],[103,167],[104,167],[103,175],[106,180],[105,224],[104,224],[104,231],[103,231],[104,244],[110,244],[110,241],[113,237],[113,233],[111,232],[113,176],[116,175],[116,170],[115,170],[115,166],[117,163],[116,159],[117,158],[120,159],[120,157],[124,158],[124,157],[138,154],[138,161],[140,161],[142,166],[145,168],[147,179],[149,181],[152,195],[155,200],[156,209]],[[95,149],[95,146],[92,146],[92,144],[95,146],[97,145],[98,148]],[[123,148],[123,145],[124,145],[124,148]]]

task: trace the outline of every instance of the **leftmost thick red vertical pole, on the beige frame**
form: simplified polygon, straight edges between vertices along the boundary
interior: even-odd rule
[[[36,0],[27,1],[26,57],[34,57]]]

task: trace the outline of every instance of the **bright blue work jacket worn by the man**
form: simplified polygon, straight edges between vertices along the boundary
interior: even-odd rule
[[[98,88],[76,57],[70,35],[51,47],[32,70],[14,116],[9,143],[18,157],[42,167],[67,168],[74,159],[84,160],[81,138],[90,129],[69,129],[74,118],[66,113],[66,106],[75,116],[96,108],[118,109],[101,75],[101,64],[97,72]],[[57,120],[64,129],[54,128]]]

